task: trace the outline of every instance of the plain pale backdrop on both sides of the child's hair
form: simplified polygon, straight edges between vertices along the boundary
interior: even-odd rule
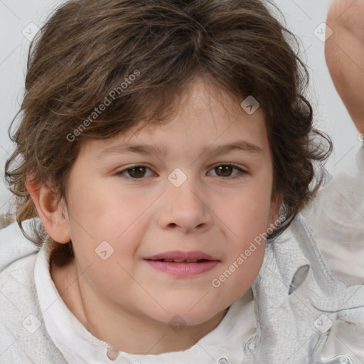
[[[4,163],[14,146],[8,137],[8,128],[18,111],[23,96],[23,82],[29,41],[23,30],[29,23],[41,27],[45,18],[63,1],[0,0],[0,213],[6,212],[11,193],[4,185]],[[324,58],[324,43],[314,31],[326,21],[331,0],[277,0],[289,30],[301,41],[304,62],[311,74],[309,100],[315,111],[319,129],[333,139],[334,151],[326,169],[334,176],[354,166],[355,151],[360,146],[358,132],[350,121],[338,96]]]

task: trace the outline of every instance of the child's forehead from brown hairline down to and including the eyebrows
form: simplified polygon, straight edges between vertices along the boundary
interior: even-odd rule
[[[200,154],[208,146],[223,151],[223,144],[235,144],[236,149],[264,154],[267,146],[264,113],[261,109],[247,113],[240,105],[242,101],[197,79],[185,87],[173,113],[163,122],[140,120],[111,138],[87,141],[83,151],[103,159],[113,152],[165,156],[173,149],[191,149]]]

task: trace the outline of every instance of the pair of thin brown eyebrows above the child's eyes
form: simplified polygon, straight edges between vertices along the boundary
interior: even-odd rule
[[[205,153],[210,149],[210,155],[218,155],[218,154],[226,154],[229,151],[240,150],[240,151],[249,151],[255,154],[262,154],[264,156],[264,152],[262,148],[257,146],[256,144],[252,144],[249,141],[235,141],[230,144],[224,144],[220,146],[216,146],[215,148],[210,148],[210,146],[204,146],[198,151],[198,155]],[[127,154],[127,153],[139,153],[142,155],[150,155],[156,154],[159,156],[166,156],[168,148],[166,146],[157,146],[157,145],[149,145],[149,144],[117,144],[116,146],[112,146],[110,148],[104,149],[97,159],[102,159],[109,154]]]

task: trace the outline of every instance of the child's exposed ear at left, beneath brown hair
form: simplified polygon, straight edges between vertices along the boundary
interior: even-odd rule
[[[68,212],[64,200],[58,202],[53,191],[39,181],[31,181],[31,177],[33,175],[26,179],[26,189],[36,205],[46,232],[56,242],[69,242]]]

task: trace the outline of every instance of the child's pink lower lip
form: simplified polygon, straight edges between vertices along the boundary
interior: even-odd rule
[[[198,274],[208,272],[215,268],[219,263],[218,260],[201,263],[171,263],[160,262],[159,260],[144,260],[154,269],[176,277],[196,277]]]

